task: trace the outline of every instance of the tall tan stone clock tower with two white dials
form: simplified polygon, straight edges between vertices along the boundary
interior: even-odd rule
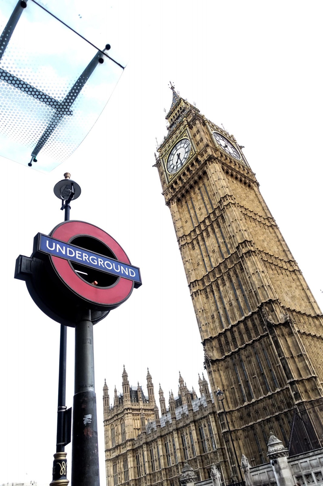
[[[214,402],[219,387],[238,457],[252,466],[268,462],[271,432],[288,446],[295,417],[305,427],[290,452],[304,441],[322,447],[322,313],[235,138],[171,89],[156,167]],[[234,464],[217,406],[218,440]]]

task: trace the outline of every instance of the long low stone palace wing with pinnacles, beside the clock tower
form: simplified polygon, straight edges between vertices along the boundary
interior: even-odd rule
[[[199,480],[210,477],[212,464],[226,476],[227,461],[216,438],[219,435],[216,407],[208,382],[200,379],[201,396],[188,390],[179,374],[178,396],[169,394],[168,408],[161,385],[159,402],[154,396],[152,377],[147,373],[147,395],[142,387],[129,386],[126,370],[122,390],[103,387],[105,464],[107,486],[179,486],[185,463]]]

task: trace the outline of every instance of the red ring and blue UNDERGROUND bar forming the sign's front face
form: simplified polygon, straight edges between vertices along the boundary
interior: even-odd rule
[[[48,255],[55,273],[76,295],[113,309],[139,287],[140,270],[112,236],[83,221],[66,221],[34,238],[33,255]]]

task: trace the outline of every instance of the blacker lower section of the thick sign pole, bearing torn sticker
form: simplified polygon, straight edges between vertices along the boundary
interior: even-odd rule
[[[99,486],[97,399],[94,391],[73,398],[72,484]]]

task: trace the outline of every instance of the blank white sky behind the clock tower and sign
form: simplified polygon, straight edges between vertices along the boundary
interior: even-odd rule
[[[69,171],[82,189],[71,219],[110,233],[143,279],[94,329],[104,486],[104,379],[113,400],[114,384],[122,391],[123,364],[130,384],[144,387],[148,366],[158,398],[159,382],[166,397],[170,389],[177,394],[179,370],[195,389],[203,371],[178,244],[152,167],[155,137],[160,143],[166,135],[169,81],[245,146],[260,190],[322,307],[322,2],[120,0],[107,6],[82,0],[68,2],[68,10],[63,0],[46,4],[94,43],[110,42],[111,53],[129,62],[89,135],[51,173],[1,158],[0,484],[34,480],[43,486],[51,480],[59,325],[13,275],[16,257],[31,254],[34,235],[49,233],[64,217],[53,186]],[[71,406],[72,329],[67,353]],[[70,479],[71,445],[66,451]]]

